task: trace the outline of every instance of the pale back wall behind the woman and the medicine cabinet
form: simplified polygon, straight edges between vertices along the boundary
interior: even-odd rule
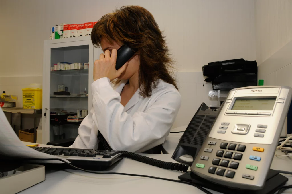
[[[97,21],[115,8],[132,4],[148,9],[165,31],[177,70],[199,72],[180,83],[182,97],[189,100],[185,102],[195,100],[197,105],[208,100],[211,87],[197,87],[198,82],[203,83],[203,65],[227,59],[256,59],[253,0],[0,0],[0,26],[10,30],[0,31],[0,77],[29,76],[36,78],[32,83],[38,83],[42,76],[43,43],[49,37],[50,27]],[[9,94],[19,94],[19,88],[5,83],[2,88],[10,88]],[[192,93],[188,88],[192,88]],[[187,103],[182,105],[180,114],[185,111],[190,111]],[[188,124],[191,114],[179,115],[181,120],[175,125]]]

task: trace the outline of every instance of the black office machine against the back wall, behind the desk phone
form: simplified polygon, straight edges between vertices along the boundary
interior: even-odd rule
[[[206,82],[212,82],[213,89],[231,90],[257,85],[257,63],[244,59],[210,62],[203,66]]]

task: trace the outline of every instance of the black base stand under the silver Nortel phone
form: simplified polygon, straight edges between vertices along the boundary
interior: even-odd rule
[[[266,184],[263,189],[261,190],[243,190],[243,189],[236,189],[230,188],[227,186],[218,185],[207,181],[192,172],[187,172],[183,175],[178,177],[181,181],[191,182],[193,184],[199,185],[201,187],[211,189],[213,191],[218,191],[224,194],[273,194],[279,190],[279,188],[286,184],[288,178],[279,174],[276,170],[270,169],[267,174]]]

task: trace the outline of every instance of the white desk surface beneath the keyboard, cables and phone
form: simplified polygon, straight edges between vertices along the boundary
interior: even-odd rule
[[[24,142],[25,144],[33,144]],[[48,147],[41,144],[40,146]],[[50,146],[53,147],[53,146]],[[171,155],[167,154],[142,154],[151,158],[162,161],[175,162],[171,159]],[[281,157],[284,158],[284,157]],[[273,169],[292,171],[292,158],[284,159],[274,158],[272,163]],[[111,170],[106,172],[124,172],[132,174],[146,174],[156,177],[164,177],[168,179],[178,180],[178,176],[182,172],[165,170],[128,158],[124,158],[118,162]],[[287,176],[290,178],[291,176]],[[292,178],[288,181],[292,184]],[[211,190],[209,190],[211,191]],[[287,192],[288,191],[288,192]],[[291,193],[291,189],[284,193]],[[214,194],[218,192],[211,191]],[[70,193],[70,194],[97,194],[97,193],[121,193],[121,194],[149,194],[149,193],[168,193],[168,194],[203,194],[202,191],[191,185],[163,181],[143,177],[129,177],[124,175],[105,175],[91,174],[80,170],[68,171],[47,171],[46,180],[31,188],[28,188],[20,194],[44,194],[44,193]]]

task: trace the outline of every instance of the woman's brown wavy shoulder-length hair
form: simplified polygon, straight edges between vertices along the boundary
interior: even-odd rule
[[[91,41],[100,47],[105,38],[109,43],[116,41],[128,45],[140,55],[140,94],[149,97],[157,87],[158,79],[178,89],[170,69],[173,60],[168,53],[165,36],[153,15],[140,6],[123,6],[100,18],[91,32]],[[153,85],[152,85],[153,84]]]

